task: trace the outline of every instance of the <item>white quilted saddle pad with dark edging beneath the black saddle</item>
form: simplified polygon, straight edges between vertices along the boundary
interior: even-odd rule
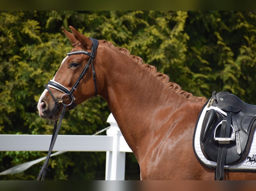
[[[193,149],[194,152],[198,158],[198,160],[206,165],[207,167],[210,168],[215,168],[217,163],[214,161],[208,160],[201,149],[200,146],[200,134],[201,134],[201,129],[202,129],[202,124],[204,120],[204,116],[206,114],[206,109],[208,107],[209,102],[206,104],[204,109],[201,111],[201,116],[197,121],[196,127],[195,127],[195,132],[194,132],[194,137],[193,137]],[[256,131],[254,132],[254,136],[252,139],[252,144],[250,151],[248,153],[248,156],[246,159],[240,163],[237,163],[235,165],[229,165],[229,166],[224,166],[224,169],[227,170],[232,170],[232,171],[256,171],[256,138],[255,138]]]

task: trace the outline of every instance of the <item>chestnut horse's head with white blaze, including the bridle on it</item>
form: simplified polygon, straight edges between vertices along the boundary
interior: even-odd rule
[[[63,104],[72,109],[97,95],[96,63],[98,41],[85,37],[70,26],[73,33],[62,27],[65,35],[73,45],[73,49],[63,59],[54,78],[48,82],[41,94],[37,109],[42,118],[57,120]]]

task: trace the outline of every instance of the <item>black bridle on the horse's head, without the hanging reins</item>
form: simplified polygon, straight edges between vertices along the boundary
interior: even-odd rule
[[[69,106],[69,109],[74,109],[76,107],[76,103],[74,103],[74,100],[76,99],[73,95],[73,92],[77,89],[81,79],[85,76],[86,72],[88,71],[89,69],[89,66],[90,64],[92,63],[92,71],[93,71],[93,81],[94,81],[94,87],[95,87],[95,96],[97,96],[97,84],[96,84],[96,72],[95,72],[95,69],[94,69],[94,65],[93,65],[93,59],[95,57],[95,52],[98,48],[98,45],[99,45],[99,41],[96,40],[96,39],[93,39],[93,38],[89,38],[92,43],[93,43],[93,46],[92,46],[92,52],[89,53],[87,51],[84,51],[84,50],[80,50],[80,51],[74,51],[74,52],[69,52],[67,53],[68,56],[70,55],[74,55],[74,54],[85,54],[85,55],[88,55],[90,56],[90,59],[89,61],[87,62],[87,64],[85,65],[82,73],[80,74],[79,78],[77,79],[76,83],[74,84],[73,88],[71,90],[69,90],[68,88],[66,88],[65,86],[62,86],[61,84],[59,84],[58,82],[54,81],[54,80],[50,80],[48,82],[48,84],[45,86],[45,88],[48,90],[49,94],[52,96],[54,102],[55,102],[55,105],[57,106],[57,108],[59,108],[59,103],[63,103],[63,96],[67,95],[71,101],[70,104],[68,104],[67,106]],[[50,91],[49,88],[53,88],[55,90],[58,90],[62,93],[64,93],[61,97],[60,97],[60,100],[57,100],[54,95],[52,94],[52,92]],[[93,97],[93,98],[94,98]]]

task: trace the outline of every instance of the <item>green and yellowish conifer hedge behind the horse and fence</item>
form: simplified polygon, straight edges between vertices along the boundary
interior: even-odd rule
[[[72,48],[61,29],[70,25],[127,48],[194,95],[228,91],[256,104],[255,11],[1,11],[1,134],[52,133],[36,104]],[[97,96],[66,112],[59,134],[94,134],[109,126],[109,114]],[[0,172],[42,156],[46,152],[0,152]],[[54,156],[46,180],[104,180],[105,160],[104,152]],[[42,163],[0,180],[34,180]],[[126,154],[125,177],[139,179],[132,153]]]

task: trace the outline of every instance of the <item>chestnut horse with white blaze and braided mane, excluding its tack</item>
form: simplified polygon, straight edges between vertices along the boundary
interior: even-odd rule
[[[90,54],[92,40],[71,26],[70,29],[72,33],[63,30],[73,44],[71,51]],[[107,101],[138,160],[142,180],[214,180],[214,170],[202,165],[193,151],[194,128],[207,101],[205,97],[182,91],[179,85],[169,82],[167,75],[157,73],[155,67],[144,64],[140,57],[110,42],[99,41],[95,57],[91,58],[94,66],[89,66],[74,90],[74,103],[94,97],[96,90]],[[71,90],[91,58],[88,54],[69,54],[53,82]],[[70,98],[64,98],[62,91],[51,86],[48,89],[55,100],[69,104]],[[57,120],[62,104],[57,109],[52,95],[45,89],[37,108],[40,117]],[[256,173],[225,171],[224,179],[255,180]]]

